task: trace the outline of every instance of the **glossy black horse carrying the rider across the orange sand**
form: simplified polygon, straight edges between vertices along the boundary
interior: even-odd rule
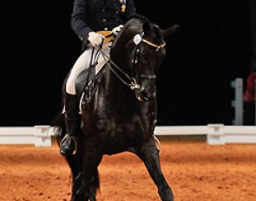
[[[120,152],[135,153],[146,165],[161,200],[174,200],[161,172],[154,126],[157,72],[166,54],[165,39],[177,27],[163,30],[146,17],[131,17],[116,36],[108,62],[90,82],[93,90],[77,85],[81,133],[77,152],[66,157],[72,172],[72,201],[96,200],[98,165],[104,154]],[[86,82],[85,77],[82,80]],[[60,114],[61,121],[53,125],[58,144],[65,134],[63,119]]]

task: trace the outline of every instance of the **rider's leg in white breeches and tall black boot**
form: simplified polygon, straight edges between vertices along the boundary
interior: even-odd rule
[[[83,69],[89,68],[89,58],[91,49],[86,49],[78,57],[73,68],[71,68],[69,78],[66,82],[66,93],[64,95],[63,113],[65,116],[66,135],[62,139],[60,152],[62,155],[75,154],[77,133],[80,127],[79,101],[75,92],[75,79]]]

